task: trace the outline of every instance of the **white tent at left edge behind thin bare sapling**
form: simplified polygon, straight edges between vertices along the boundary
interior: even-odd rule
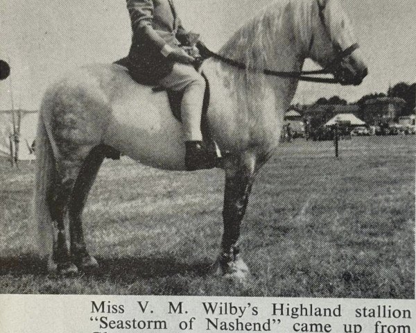
[[[36,137],[37,112],[15,110],[15,123],[18,126],[20,114],[19,160],[34,160],[31,145]],[[0,156],[10,157],[10,137],[13,135],[12,111],[0,111]]]

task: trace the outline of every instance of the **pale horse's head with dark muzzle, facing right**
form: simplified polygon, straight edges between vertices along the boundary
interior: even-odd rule
[[[342,85],[359,85],[367,66],[352,26],[338,0],[312,0],[309,58],[318,62]]]

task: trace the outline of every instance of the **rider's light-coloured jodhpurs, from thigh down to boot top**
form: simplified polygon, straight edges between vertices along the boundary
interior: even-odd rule
[[[176,63],[171,74],[159,80],[159,84],[167,89],[184,90],[180,112],[185,141],[202,141],[200,124],[205,94],[204,78],[191,65]]]

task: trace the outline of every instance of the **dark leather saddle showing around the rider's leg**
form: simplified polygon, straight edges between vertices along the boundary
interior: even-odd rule
[[[150,85],[148,83],[148,79],[141,78],[140,76],[135,75],[135,71],[132,70],[131,62],[130,62],[130,60],[128,60],[127,57],[122,58],[120,60],[117,60],[116,62],[114,62],[114,64],[125,67],[125,69],[128,70],[128,74],[130,75],[132,80],[135,80],[136,83],[139,83],[140,85]],[[201,62],[201,65],[202,65],[202,62]],[[205,94],[204,94],[204,103],[202,105],[202,116],[201,116],[202,139],[203,139],[203,142],[205,144],[205,148],[208,151],[216,151],[216,144],[215,144],[214,140],[212,139],[211,131],[209,130],[209,126],[208,126],[208,117],[207,117],[207,112],[208,112],[208,108],[209,108],[209,99],[210,99],[209,81],[203,73],[201,73],[201,75],[205,79],[205,83],[206,83],[206,85],[205,85]],[[166,92],[167,97],[168,97],[168,101],[169,101],[169,105],[171,105],[171,112],[172,112],[173,116],[177,119],[177,121],[182,123],[180,105],[182,103],[182,98],[184,96],[184,92],[176,92],[176,91],[173,91],[171,89],[166,89],[166,88],[160,87],[160,86],[155,86],[155,87],[153,87],[152,90],[153,90],[154,94]]]

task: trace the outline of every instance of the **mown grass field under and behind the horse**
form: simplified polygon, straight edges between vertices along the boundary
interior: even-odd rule
[[[281,144],[254,185],[241,249],[250,286],[209,266],[223,172],[103,165],[86,207],[94,275],[48,276],[31,224],[34,166],[0,165],[0,293],[414,298],[415,137]]]

